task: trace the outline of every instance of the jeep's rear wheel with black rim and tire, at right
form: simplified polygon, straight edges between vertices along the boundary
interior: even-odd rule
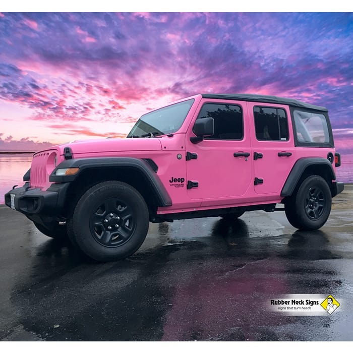
[[[319,175],[310,175],[284,205],[289,223],[298,229],[321,228],[331,212],[331,191]]]

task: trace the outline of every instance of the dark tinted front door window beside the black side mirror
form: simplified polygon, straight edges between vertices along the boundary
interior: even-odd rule
[[[204,137],[205,140],[242,140],[243,111],[242,107],[234,104],[204,104],[197,119],[212,117],[214,120],[214,134]]]

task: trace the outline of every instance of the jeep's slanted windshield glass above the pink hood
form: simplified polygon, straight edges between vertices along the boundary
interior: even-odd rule
[[[142,115],[127,137],[160,136],[178,131],[193,103],[194,99],[189,99]]]

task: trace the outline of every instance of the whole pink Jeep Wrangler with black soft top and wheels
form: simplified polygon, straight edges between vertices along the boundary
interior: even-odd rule
[[[35,153],[6,205],[111,261],[139,249],[149,222],[283,203],[292,226],[318,229],[344,187],[327,109],[294,99],[198,94],[142,115],[127,137]]]

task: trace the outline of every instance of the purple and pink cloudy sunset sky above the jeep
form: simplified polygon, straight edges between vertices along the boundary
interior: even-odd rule
[[[0,13],[0,151],[125,137],[196,93],[326,106],[353,160],[353,14]]]

